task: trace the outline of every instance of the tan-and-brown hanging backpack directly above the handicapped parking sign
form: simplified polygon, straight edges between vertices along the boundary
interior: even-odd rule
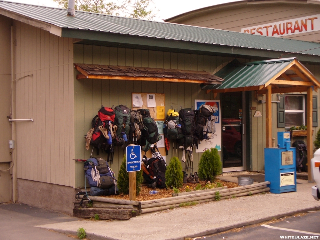
[[[141,138],[141,132],[144,129],[143,118],[138,110],[130,110],[130,141],[138,144]]]

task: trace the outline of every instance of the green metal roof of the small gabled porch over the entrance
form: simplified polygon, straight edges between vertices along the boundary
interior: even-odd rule
[[[284,58],[247,63],[240,63],[235,59],[214,74],[225,80],[222,84],[200,84],[200,86],[202,90],[261,86],[295,59]]]

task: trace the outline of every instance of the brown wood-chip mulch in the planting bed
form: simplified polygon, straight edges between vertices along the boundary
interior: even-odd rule
[[[222,185],[224,187],[228,187],[228,188],[235,188],[235,187],[239,187],[238,184],[236,184],[235,182],[226,182],[226,181],[222,181],[222,180],[216,180],[215,182],[220,182],[222,183]],[[206,185],[206,181],[200,181],[200,184],[202,187],[204,187]],[[185,192],[187,186],[189,186],[189,188],[193,189],[198,185],[198,183],[184,183],[183,186],[180,188],[180,192]],[[137,201],[146,201],[146,200],[154,200],[154,199],[159,199],[159,198],[165,198],[165,197],[172,197],[172,193],[173,193],[173,189],[159,189],[156,188],[157,191],[159,191],[159,193],[157,194],[149,194],[149,191],[153,190],[152,188],[148,188],[147,186],[142,186],[141,190],[140,190],[140,194],[137,196]],[[190,192],[192,193],[192,192]],[[124,199],[124,200],[129,200],[129,195],[126,194],[120,194],[120,195],[111,195],[111,196],[106,196],[109,198],[116,198],[116,199]]]

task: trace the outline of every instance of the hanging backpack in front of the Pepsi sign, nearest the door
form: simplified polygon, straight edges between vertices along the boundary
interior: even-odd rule
[[[198,140],[210,139],[211,135],[216,132],[215,117],[212,116],[215,112],[216,110],[210,105],[201,105],[199,110],[195,111],[195,135]]]

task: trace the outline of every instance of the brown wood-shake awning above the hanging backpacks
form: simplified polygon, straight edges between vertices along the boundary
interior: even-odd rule
[[[107,66],[82,63],[74,63],[74,67],[81,73],[77,75],[77,79],[99,78],[203,84],[221,84],[224,81],[222,78],[205,71]]]

